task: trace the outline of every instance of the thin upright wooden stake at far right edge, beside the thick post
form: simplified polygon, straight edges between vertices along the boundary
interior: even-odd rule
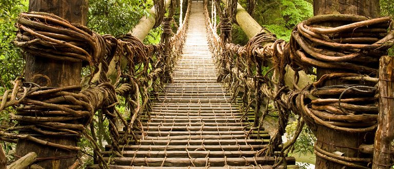
[[[379,66],[379,124],[373,151],[374,169],[390,168],[390,147],[394,139],[394,57],[381,57]]]

